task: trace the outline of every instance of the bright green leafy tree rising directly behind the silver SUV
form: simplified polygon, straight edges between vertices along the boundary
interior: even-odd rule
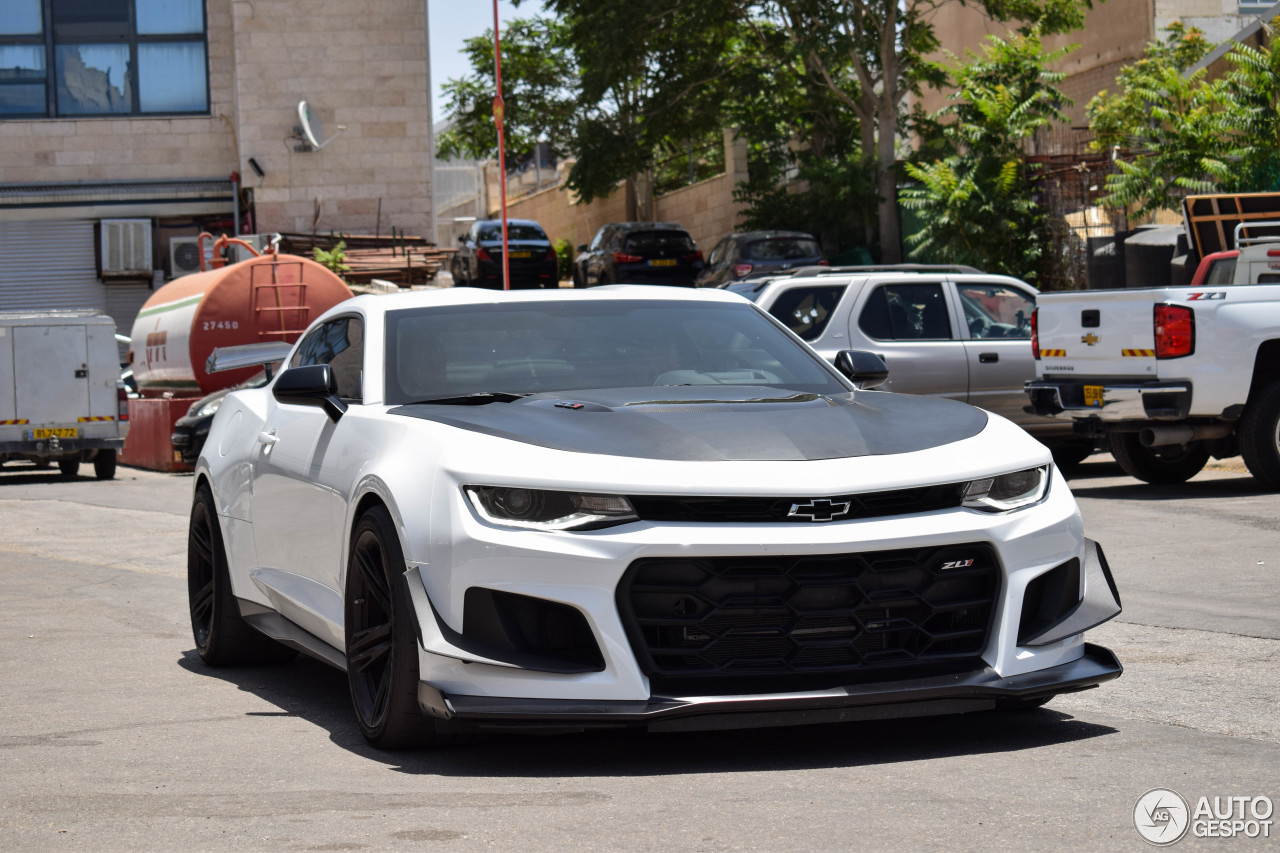
[[[945,123],[951,154],[906,164],[918,186],[902,191],[902,205],[924,220],[908,238],[913,256],[1037,280],[1044,216],[1025,143],[1042,127],[1066,122],[1061,106],[1069,100],[1057,88],[1066,76],[1046,67],[1071,50],[1044,54],[1033,28],[988,36],[980,55],[966,53],[968,63],[946,69],[956,91],[933,118]]]

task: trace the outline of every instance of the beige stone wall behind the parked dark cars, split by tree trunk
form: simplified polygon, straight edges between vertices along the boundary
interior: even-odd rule
[[[739,225],[740,207],[733,201],[733,188],[742,181],[746,181],[746,143],[726,131],[724,173],[658,196],[654,218],[684,225],[707,255],[721,237]],[[497,193],[490,196],[490,205],[495,204]],[[490,211],[490,215],[498,214]],[[602,225],[626,220],[626,193],[620,186],[608,199],[577,204],[571,192],[554,187],[508,202],[507,215],[511,219],[535,219],[552,241],[567,240],[576,250],[590,242]]]

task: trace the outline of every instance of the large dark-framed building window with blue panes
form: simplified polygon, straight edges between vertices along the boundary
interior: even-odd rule
[[[209,113],[205,0],[3,0],[0,119]]]

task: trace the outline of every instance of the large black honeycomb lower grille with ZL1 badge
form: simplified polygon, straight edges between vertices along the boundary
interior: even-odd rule
[[[805,689],[980,665],[1000,575],[979,543],[663,557],[631,564],[617,598],[655,692]]]

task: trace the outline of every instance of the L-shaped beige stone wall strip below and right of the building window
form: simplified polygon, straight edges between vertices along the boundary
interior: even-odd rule
[[[232,0],[209,0],[207,8],[209,117],[0,122],[0,183],[229,175],[236,169]]]

